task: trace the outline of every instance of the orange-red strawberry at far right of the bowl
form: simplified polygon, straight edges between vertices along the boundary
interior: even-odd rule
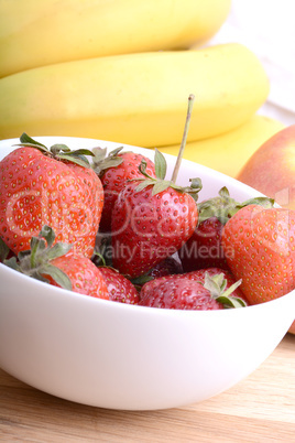
[[[295,212],[249,205],[226,224],[222,247],[250,304],[295,288]]]

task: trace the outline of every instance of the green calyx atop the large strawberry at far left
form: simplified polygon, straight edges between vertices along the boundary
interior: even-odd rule
[[[15,145],[35,148],[44,155],[52,156],[56,160],[76,163],[84,168],[90,168],[90,162],[87,159],[87,155],[94,156],[94,152],[88,149],[77,149],[75,151],[72,151],[66,144],[63,143],[53,144],[48,149],[47,147],[45,147],[45,144],[32,139],[25,132],[23,132],[20,137],[20,143]]]

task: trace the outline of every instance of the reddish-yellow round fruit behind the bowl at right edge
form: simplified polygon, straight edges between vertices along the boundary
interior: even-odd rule
[[[295,125],[265,141],[248,160],[237,179],[295,209]],[[288,329],[295,334],[295,321]]]

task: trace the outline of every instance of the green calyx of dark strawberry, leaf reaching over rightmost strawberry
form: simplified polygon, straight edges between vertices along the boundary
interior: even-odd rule
[[[265,208],[273,207],[274,199],[269,197],[253,197],[242,203],[230,196],[226,186],[221,187],[218,196],[198,204],[199,224],[208,218],[216,217],[222,225],[226,225],[239,209],[248,205],[260,205]]]

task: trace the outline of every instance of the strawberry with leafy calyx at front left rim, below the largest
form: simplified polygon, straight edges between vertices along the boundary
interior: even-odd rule
[[[109,300],[105,279],[91,260],[72,252],[72,245],[54,241],[53,229],[44,226],[32,237],[30,250],[20,252],[18,259],[4,260],[4,264],[52,285]]]

